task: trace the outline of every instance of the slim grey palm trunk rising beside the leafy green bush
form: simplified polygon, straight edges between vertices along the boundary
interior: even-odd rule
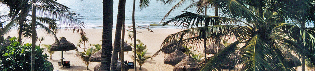
[[[36,47],[36,0],[32,1],[33,11],[32,11],[32,52],[31,52],[31,71],[35,71],[35,47]]]

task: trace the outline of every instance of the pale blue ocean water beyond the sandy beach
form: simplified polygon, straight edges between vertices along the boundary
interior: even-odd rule
[[[61,3],[69,8],[71,11],[75,11],[81,16],[83,16],[82,21],[86,23],[86,28],[97,28],[102,29],[102,14],[103,14],[103,5],[102,0],[58,0],[58,3]],[[175,2],[177,3],[177,2]],[[159,24],[164,17],[164,15],[175,5],[166,4],[164,5],[161,2],[156,0],[151,0],[150,5],[147,8],[139,8],[139,0],[136,0],[135,7],[135,23],[136,26],[150,26],[150,24]],[[173,18],[177,15],[180,15],[184,12],[184,9],[191,3],[186,2],[181,7],[175,9],[172,13],[169,14],[165,21],[168,21],[168,18]],[[132,26],[132,6],[133,0],[126,0],[126,13],[125,13],[125,25]],[[116,27],[117,20],[117,9],[118,9],[118,0],[114,0],[114,16],[113,16],[113,27]],[[211,15],[211,13],[209,13]],[[169,24],[166,26],[151,26],[151,29],[174,29],[180,28]]]

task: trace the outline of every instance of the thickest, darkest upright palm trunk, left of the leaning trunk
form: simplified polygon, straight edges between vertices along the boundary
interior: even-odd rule
[[[112,57],[113,0],[103,0],[103,33],[100,71],[110,71]]]

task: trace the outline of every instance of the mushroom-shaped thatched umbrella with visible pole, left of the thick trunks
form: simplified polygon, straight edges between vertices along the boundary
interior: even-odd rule
[[[55,42],[51,45],[50,51],[61,51],[61,64],[63,64],[63,51],[76,49],[73,43],[67,41],[65,37],[61,37],[59,43]]]

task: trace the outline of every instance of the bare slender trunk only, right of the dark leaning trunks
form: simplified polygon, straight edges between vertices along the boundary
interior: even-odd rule
[[[134,5],[132,7],[132,28],[133,28],[133,33],[134,33],[134,50],[135,50],[135,71],[137,71],[137,56],[136,56],[136,53],[137,53],[137,49],[136,49],[136,46],[137,46],[137,41],[136,41],[136,26],[135,26],[135,5],[136,5],[136,0],[134,0]]]

